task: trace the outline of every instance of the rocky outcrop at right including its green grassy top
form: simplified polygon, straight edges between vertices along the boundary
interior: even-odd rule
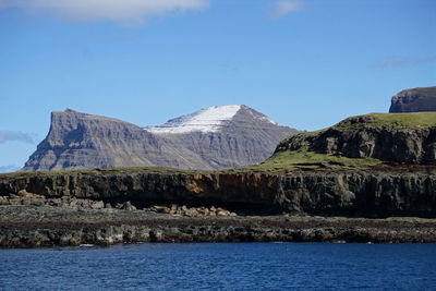
[[[420,118],[422,124],[405,124]],[[385,120],[386,119],[386,120]],[[405,122],[402,124],[401,122]],[[348,158],[376,158],[395,163],[436,163],[436,114],[368,114],[347,119],[327,130],[282,141],[276,153],[307,149]]]

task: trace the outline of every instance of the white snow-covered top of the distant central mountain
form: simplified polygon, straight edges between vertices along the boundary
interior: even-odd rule
[[[146,128],[152,133],[190,133],[218,132],[225,128],[240,111],[247,111],[252,119],[277,124],[270,118],[244,105],[225,105],[203,108],[194,113],[167,121],[162,125]]]

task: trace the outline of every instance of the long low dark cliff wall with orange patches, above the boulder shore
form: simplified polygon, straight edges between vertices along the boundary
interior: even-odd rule
[[[47,197],[102,201],[216,204],[242,210],[436,216],[436,171],[153,173],[145,171],[65,172],[0,178],[0,194],[25,190]]]

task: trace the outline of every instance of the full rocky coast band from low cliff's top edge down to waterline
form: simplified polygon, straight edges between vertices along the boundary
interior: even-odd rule
[[[0,175],[0,247],[436,242],[435,181],[434,167],[284,174],[141,169],[5,174]]]

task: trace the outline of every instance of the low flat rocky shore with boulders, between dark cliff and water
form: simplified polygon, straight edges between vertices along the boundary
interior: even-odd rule
[[[65,206],[47,199],[36,206],[14,199],[20,198],[0,206],[0,247],[141,242],[436,242],[436,219],[238,216],[230,211],[192,216],[192,210],[183,213],[179,206],[118,209],[96,207],[102,202],[92,201],[77,199],[75,206]]]

